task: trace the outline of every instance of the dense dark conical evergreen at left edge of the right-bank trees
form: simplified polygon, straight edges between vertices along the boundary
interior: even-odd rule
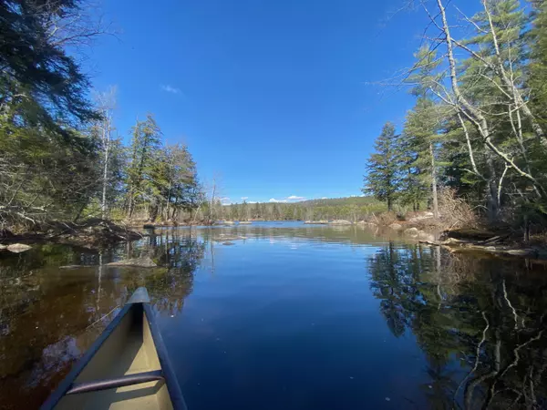
[[[386,201],[387,210],[393,210],[397,198],[400,166],[395,126],[391,122],[386,123],[375,141],[375,151],[366,164],[363,192],[374,195],[377,200]]]

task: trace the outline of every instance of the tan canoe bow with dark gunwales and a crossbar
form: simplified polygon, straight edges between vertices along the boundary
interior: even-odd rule
[[[105,408],[186,410],[145,288],[133,293],[41,407]]]

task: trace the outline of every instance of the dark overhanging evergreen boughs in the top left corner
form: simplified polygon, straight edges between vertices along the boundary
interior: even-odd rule
[[[0,4],[0,106],[12,127],[72,138],[71,127],[98,118],[86,98],[88,78],[52,33],[78,0],[7,0]]]

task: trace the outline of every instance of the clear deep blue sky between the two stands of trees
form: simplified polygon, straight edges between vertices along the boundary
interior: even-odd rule
[[[413,105],[367,85],[412,64],[427,17],[402,4],[107,0],[119,35],[93,47],[88,73],[118,87],[120,135],[153,113],[231,201],[359,195],[382,125]]]

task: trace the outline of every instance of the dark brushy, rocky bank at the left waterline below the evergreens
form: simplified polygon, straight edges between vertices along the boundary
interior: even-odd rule
[[[0,244],[55,242],[88,248],[107,246],[120,241],[136,241],[143,237],[128,226],[110,220],[89,219],[82,222],[50,221],[36,225],[32,231],[0,232]]]

